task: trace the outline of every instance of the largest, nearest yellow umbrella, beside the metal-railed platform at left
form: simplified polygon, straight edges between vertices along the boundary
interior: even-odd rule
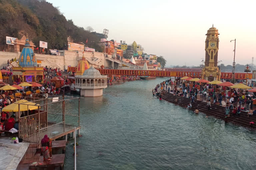
[[[28,109],[36,110],[36,109],[38,109],[38,106],[39,106],[39,104],[36,104],[33,102],[28,102],[27,100],[19,100],[15,103],[12,103],[12,104],[4,107],[2,112],[18,112],[19,111],[19,103],[24,103],[24,104],[20,105],[20,111],[27,111]],[[31,105],[35,105],[35,106],[31,106]]]

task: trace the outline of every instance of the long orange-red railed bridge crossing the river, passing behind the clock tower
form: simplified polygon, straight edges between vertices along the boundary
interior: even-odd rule
[[[105,75],[157,76],[157,77],[184,77],[201,78],[201,71],[160,71],[160,70],[120,70],[98,69]],[[235,73],[235,79],[252,79],[252,73]],[[221,79],[232,79],[231,72],[221,73]]]

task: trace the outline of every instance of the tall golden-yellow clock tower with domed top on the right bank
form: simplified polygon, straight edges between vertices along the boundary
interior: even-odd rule
[[[212,27],[207,31],[205,40],[205,65],[202,69],[202,79],[208,81],[220,80],[220,70],[218,68],[219,32]]]

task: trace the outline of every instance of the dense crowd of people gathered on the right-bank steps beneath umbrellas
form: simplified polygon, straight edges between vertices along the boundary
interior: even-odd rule
[[[252,82],[251,87],[254,87],[254,85],[255,82]],[[250,86],[249,83],[248,86]],[[240,116],[241,111],[245,111],[248,117],[256,115],[256,110],[253,110],[253,99],[256,98],[256,93],[250,93],[244,89],[236,90],[230,87],[207,83],[182,82],[180,79],[176,79],[174,82],[171,79],[165,80],[152,89],[153,95],[157,95],[160,100],[164,95],[164,91],[190,98],[191,102],[187,105],[188,109],[192,108],[192,104],[197,100],[198,95],[201,95],[202,100],[206,100],[208,110],[211,109],[212,103],[218,105],[225,104],[225,117],[230,116],[230,109],[232,109],[232,116]],[[195,112],[198,113],[199,111]],[[253,124],[253,122],[250,122],[251,127]]]

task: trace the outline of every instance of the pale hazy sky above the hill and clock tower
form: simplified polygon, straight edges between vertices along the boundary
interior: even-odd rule
[[[151,1],[151,0],[47,0],[67,19],[96,32],[109,30],[108,40],[136,41],[146,53],[163,55],[168,65],[199,65],[205,56],[205,34],[219,30],[219,57],[236,63],[256,60],[255,0]],[[256,61],[254,62],[256,64]]]

